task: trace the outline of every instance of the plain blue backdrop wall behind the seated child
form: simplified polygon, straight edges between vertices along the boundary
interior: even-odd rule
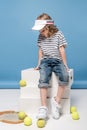
[[[87,88],[87,1],[0,0],[0,88],[19,88],[21,70],[37,65],[35,18],[46,12],[64,33],[72,88]]]

